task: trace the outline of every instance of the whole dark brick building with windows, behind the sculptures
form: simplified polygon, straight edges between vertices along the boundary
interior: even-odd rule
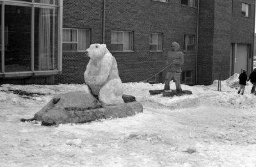
[[[182,83],[211,84],[253,64],[253,0],[0,0],[0,83],[84,83],[90,44],[106,44],[122,81],[163,82],[166,51]],[[10,14],[12,13],[12,14]],[[31,19],[32,18],[32,19]],[[221,74],[221,75],[220,75]]]

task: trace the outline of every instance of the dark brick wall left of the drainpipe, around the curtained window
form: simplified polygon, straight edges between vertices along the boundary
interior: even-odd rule
[[[91,29],[91,41],[102,43],[102,0],[63,0],[63,28]],[[63,52],[59,83],[84,83],[83,73],[89,59],[83,52]]]

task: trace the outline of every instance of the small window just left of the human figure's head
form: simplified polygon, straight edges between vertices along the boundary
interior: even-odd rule
[[[150,51],[163,51],[163,33],[150,33]]]

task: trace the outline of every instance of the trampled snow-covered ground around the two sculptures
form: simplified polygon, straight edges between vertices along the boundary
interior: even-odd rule
[[[0,86],[0,166],[256,166],[256,96],[238,74],[210,86],[186,86],[193,95],[162,97],[163,84],[124,83],[143,113],[83,124],[44,127],[33,118],[58,93],[81,84]],[[171,83],[171,88],[175,84]]]

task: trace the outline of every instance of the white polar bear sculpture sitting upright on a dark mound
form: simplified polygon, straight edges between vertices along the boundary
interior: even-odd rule
[[[93,95],[97,95],[103,105],[124,103],[117,63],[106,44],[92,44],[85,54],[90,57],[90,61],[84,72],[84,81]]]

